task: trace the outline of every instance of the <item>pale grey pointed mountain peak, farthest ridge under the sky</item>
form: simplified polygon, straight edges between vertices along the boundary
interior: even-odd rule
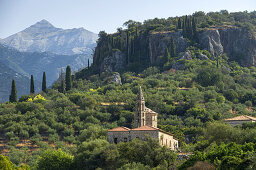
[[[96,40],[97,34],[84,28],[61,29],[42,20],[21,32],[0,39],[0,43],[22,52],[90,55]]]

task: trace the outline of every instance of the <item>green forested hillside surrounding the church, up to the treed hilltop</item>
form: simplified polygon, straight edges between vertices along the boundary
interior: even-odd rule
[[[194,29],[189,29],[188,22]],[[143,24],[129,21],[126,25],[128,29],[119,29],[116,34],[101,32],[92,67],[72,78],[67,74],[66,82],[55,83],[46,93],[0,104],[1,154],[14,163],[10,166],[255,169],[256,124],[232,127],[223,119],[256,116],[256,67],[242,66],[240,60],[225,54],[224,48],[222,53],[211,54],[197,39],[200,30],[228,25],[247,30],[243,35],[252,35],[255,12],[197,12],[193,16],[147,20]],[[132,29],[134,37],[128,32]],[[157,57],[150,58],[149,34],[176,29],[180,33],[174,31],[170,35],[177,34],[178,38],[169,36],[168,48],[160,38],[160,44],[155,46],[157,54],[152,55]],[[130,37],[128,46],[121,34]],[[123,43],[117,43],[120,41]],[[176,41],[184,42],[185,51],[179,49]],[[138,42],[140,45],[133,45]],[[164,49],[163,55],[157,49]],[[111,64],[113,56],[117,59],[115,64],[125,59],[125,67]],[[104,60],[106,67],[102,65]],[[117,81],[119,74],[121,83]],[[146,106],[159,113],[158,127],[174,134],[180,151],[192,153],[188,160],[177,159],[179,153],[160,147],[153,139],[117,145],[107,142],[108,129],[133,128],[139,86]],[[5,157],[1,160],[11,164]]]

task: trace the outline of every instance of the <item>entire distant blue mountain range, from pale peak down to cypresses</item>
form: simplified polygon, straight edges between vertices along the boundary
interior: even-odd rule
[[[50,86],[67,65],[72,71],[87,67],[96,40],[97,34],[84,28],[56,28],[46,20],[0,39],[0,102],[8,100],[12,79],[17,79],[21,96],[29,93],[31,74],[38,81],[39,91],[43,72]]]

